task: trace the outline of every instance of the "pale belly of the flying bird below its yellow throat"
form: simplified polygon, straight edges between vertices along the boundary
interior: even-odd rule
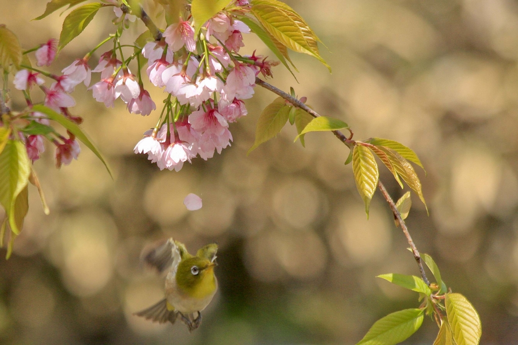
[[[167,301],[171,306],[175,307],[175,310],[184,314],[204,310],[209,305],[217,290],[218,280],[215,277],[213,291],[208,292],[205,294],[205,296],[192,297],[184,293],[176,284],[176,279],[174,276],[168,276],[165,283]]]

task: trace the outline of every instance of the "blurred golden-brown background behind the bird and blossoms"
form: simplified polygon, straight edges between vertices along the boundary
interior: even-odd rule
[[[416,246],[477,308],[482,343],[518,343],[518,2],[286,2],[329,47],[321,52],[333,74],[292,54],[299,83],[282,66],[269,82],[348,122],[355,139],[390,138],[418,153],[430,215],[413,194]],[[45,4],[0,0],[0,22],[25,49],[59,37],[60,11],[30,21]],[[113,18],[100,10],[51,71],[113,32]],[[144,30],[130,28],[127,41]],[[245,43],[243,53],[271,55],[252,35]],[[160,108],[165,94],[149,91]],[[247,157],[258,115],[275,98],[255,92],[248,116],[231,125],[232,147],[171,172],[133,153],[158,112],[143,118],[120,101],[106,109],[79,85],[73,112],[115,177],[84,147],[61,170],[50,147],[35,163],[51,214],[30,188],[14,254],[5,261],[0,250],[0,343],[354,344],[378,318],[418,306],[415,293],[375,278],[419,270],[379,192],[366,220],[343,165],[349,150],[333,135],[310,133],[304,149],[286,126]],[[23,107],[15,97],[13,108]],[[393,198],[405,192],[386,169],[380,178]],[[201,210],[185,209],[189,193],[203,198]],[[168,237],[191,251],[220,246],[220,290],[193,334],[132,316],[163,297],[163,280],[139,255]],[[437,330],[426,319],[406,343],[431,344]]]

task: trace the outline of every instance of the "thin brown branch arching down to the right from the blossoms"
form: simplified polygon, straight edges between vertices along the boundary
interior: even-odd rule
[[[278,88],[274,87],[274,85],[268,84],[267,82],[265,82],[264,80],[262,80],[260,78],[255,78],[255,83],[257,85],[260,85],[261,87],[263,87],[267,90],[270,90],[271,92],[281,96],[282,98],[286,99],[288,102],[293,104],[293,106],[300,108],[300,109],[306,111],[307,113],[309,113],[312,117],[318,118],[321,116],[318,112],[314,111],[313,109],[311,109],[304,103],[300,102],[300,100],[298,100],[297,98],[292,97],[291,95],[285,93],[282,90],[279,90]],[[344,144],[346,144],[350,148],[352,146],[354,146],[354,140],[351,140],[351,138],[347,138],[345,135],[343,135],[342,132],[333,131],[333,134],[340,141],[342,141]],[[401,213],[399,213],[399,211],[397,210],[394,200],[392,200],[391,196],[386,191],[385,186],[383,185],[383,183],[380,180],[378,180],[378,188],[381,191],[381,194],[383,194],[383,197],[385,198],[386,202],[389,204],[389,207],[390,207],[392,213],[394,213],[394,217],[399,221],[399,224],[401,225],[401,229],[402,229],[403,233],[405,234],[405,237],[407,238],[408,244],[410,245],[410,249],[412,249],[412,253],[414,254],[415,261],[418,263],[419,270],[421,272],[421,278],[427,285],[430,285],[428,278],[426,278],[426,273],[424,271],[423,263],[421,260],[421,255],[419,254],[418,249],[415,247],[414,241],[412,240],[412,237],[410,236],[410,233],[408,232],[408,228],[407,228],[407,225],[405,224],[405,221],[401,218]]]

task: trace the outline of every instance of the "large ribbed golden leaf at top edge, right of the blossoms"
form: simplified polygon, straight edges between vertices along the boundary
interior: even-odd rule
[[[287,48],[312,55],[331,71],[331,67],[320,56],[316,44],[318,37],[291,7],[285,4],[279,7],[265,0],[253,0],[251,3],[251,13],[268,33]]]

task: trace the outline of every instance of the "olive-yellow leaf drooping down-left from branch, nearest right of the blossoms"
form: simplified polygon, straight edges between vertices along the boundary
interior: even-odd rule
[[[282,97],[278,97],[264,108],[255,127],[255,142],[248,150],[247,155],[263,142],[270,140],[279,133],[288,120],[290,106],[287,106]]]

